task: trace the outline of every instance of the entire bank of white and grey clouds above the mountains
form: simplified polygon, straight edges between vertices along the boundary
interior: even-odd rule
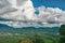
[[[0,24],[12,27],[56,27],[65,23],[64,17],[65,11],[58,8],[34,8],[30,0],[0,0],[0,18],[9,19]]]

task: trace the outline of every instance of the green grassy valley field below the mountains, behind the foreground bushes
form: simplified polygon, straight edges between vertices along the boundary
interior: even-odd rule
[[[0,33],[0,43],[20,43],[20,41],[23,38],[30,39],[31,41],[41,39],[44,43],[58,43],[58,35],[54,35],[53,33],[43,33],[43,32],[37,32],[37,33]],[[38,40],[40,41],[40,40]],[[34,42],[32,42],[34,43]]]

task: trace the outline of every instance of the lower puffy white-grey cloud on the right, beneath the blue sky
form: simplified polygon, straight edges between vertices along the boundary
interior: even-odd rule
[[[65,22],[65,11],[62,11],[58,8],[46,8],[40,6],[39,9],[39,17],[42,19],[46,19],[46,22],[52,22],[52,23],[63,23]]]

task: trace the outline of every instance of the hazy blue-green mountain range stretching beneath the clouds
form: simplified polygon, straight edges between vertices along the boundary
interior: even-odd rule
[[[13,28],[3,24],[0,24],[0,32],[11,32],[11,33],[26,33],[26,32],[52,32],[57,33],[58,27],[23,27],[23,28]]]

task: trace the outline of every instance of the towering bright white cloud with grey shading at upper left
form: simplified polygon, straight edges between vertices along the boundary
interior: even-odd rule
[[[11,5],[10,6],[6,5],[6,8],[3,6],[2,9],[0,9],[1,11],[0,17],[8,18],[8,19],[16,19],[16,20],[22,20],[23,18],[31,19],[34,17],[35,10],[30,0],[29,1],[23,0],[21,6],[18,5],[20,1],[17,0],[10,0],[8,2],[10,2]],[[3,5],[3,3],[1,5]]]

